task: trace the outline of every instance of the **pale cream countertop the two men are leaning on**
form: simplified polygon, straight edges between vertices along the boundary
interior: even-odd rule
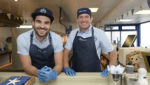
[[[4,81],[11,76],[29,75],[24,72],[0,72],[0,81]],[[148,73],[148,79],[150,80],[150,73]],[[77,73],[75,77],[66,76],[66,74],[62,72],[56,81],[52,80],[47,83],[40,82],[39,79],[35,77],[34,85],[111,85],[108,83],[108,77],[101,77],[99,72]]]

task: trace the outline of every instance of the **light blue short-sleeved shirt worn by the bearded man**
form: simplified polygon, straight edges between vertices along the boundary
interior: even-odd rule
[[[39,48],[46,48],[49,42],[49,36],[47,36],[42,42],[36,39],[34,30],[30,30],[18,36],[17,38],[17,53],[22,55],[29,55],[30,49],[30,39],[31,33],[33,32],[33,44]],[[52,38],[52,45],[54,48],[54,53],[60,52],[63,50],[62,39],[59,35],[54,32],[50,32]]]

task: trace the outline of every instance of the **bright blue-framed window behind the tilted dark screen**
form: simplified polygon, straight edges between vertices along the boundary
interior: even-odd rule
[[[121,43],[119,46],[122,46],[126,37],[128,35],[137,35],[136,25],[107,25],[107,29],[105,28],[106,35],[108,39],[114,44]],[[109,30],[108,30],[109,28]],[[134,46],[137,46],[137,39],[134,42]]]

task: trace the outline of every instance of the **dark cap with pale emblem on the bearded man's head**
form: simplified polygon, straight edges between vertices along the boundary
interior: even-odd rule
[[[47,16],[50,18],[51,22],[53,22],[54,17],[53,17],[53,13],[51,10],[47,9],[47,8],[38,8],[36,9],[33,13],[32,13],[32,18],[33,20],[35,20],[36,16],[38,15],[42,15],[42,16]]]

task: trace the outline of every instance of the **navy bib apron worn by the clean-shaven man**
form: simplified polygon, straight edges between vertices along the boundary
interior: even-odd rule
[[[93,27],[91,37],[83,38],[77,34],[78,31],[73,42],[71,67],[76,72],[100,72],[100,60],[95,47]]]

